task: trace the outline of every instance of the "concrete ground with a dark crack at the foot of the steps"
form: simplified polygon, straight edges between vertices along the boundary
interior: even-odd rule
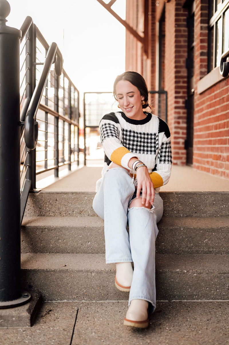
[[[33,327],[1,328],[1,344],[228,344],[228,302],[158,301],[142,330],[123,326],[127,309],[126,300],[46,302]]]

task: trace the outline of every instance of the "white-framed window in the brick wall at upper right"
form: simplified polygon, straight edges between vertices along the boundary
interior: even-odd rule
[[[209,0],[208,72],[220,65],[229,49],[229,0]]]

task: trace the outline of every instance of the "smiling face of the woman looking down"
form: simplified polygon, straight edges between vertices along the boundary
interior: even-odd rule
[[[136,86],[127,80],[120,80],[116,85],[116,96],[121,110],[127,117],[133,120],[145,118],[141,103],[144,96],[141,96]]]

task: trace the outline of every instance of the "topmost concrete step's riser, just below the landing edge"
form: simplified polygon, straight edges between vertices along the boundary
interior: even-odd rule
[[[95,216],[94,192],[41,191],[30,194],[25,216]],[[229,215],[229,192],[161,192],[164,216]]]

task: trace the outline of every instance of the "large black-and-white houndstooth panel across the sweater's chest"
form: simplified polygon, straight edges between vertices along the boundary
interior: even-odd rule
[[[134,130],[122,130],[122,145],[130,152],[137,154],[156,155],[159,148],[158,135],[156,133],[136,132]]]

